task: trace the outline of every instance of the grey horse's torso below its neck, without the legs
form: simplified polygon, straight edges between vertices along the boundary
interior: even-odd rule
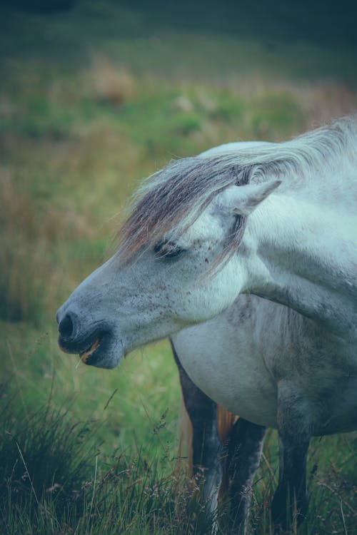
[[[311,434],[357,429],[356,353],[288,307],[241,295],[171,340],[192,381],[249,422],[277,427],[278,384],[288,379],[311,399]]]

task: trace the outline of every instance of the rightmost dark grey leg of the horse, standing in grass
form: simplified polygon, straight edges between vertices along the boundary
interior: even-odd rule
[[[271,504],[277,531],[301,522],[308,510],[306,457],[312,411],[301,397],[291,392],[286,387],[278,392],[279,481]]]

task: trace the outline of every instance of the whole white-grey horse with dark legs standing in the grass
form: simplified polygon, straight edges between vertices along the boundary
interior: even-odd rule
[[[357,429],[356,208],[355,116],[179,158],[144,181],[115,254],[57,312],[60,347],[90,366],[170,337],[203,499],[215,511],[228,479],[241,526],[267,427],[276,531],[306,516],[311,437]]]

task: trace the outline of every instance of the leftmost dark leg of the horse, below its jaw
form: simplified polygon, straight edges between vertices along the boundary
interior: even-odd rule
[[[223,472],[222,445],[216,421],[217,405],[191,381],[181,366],[172,342],[171,346],[180,374],[183,401],[193,428],[193,476],[203,474],[202,497],[213,513],[217,507]]]

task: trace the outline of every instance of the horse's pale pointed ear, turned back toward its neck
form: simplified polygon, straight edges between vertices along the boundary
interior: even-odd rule
[[[281,180],[268,180],[260,184],[236,186],[235,195],[231,199],[233,212],[237,215],[249,215],[280,184]]]

